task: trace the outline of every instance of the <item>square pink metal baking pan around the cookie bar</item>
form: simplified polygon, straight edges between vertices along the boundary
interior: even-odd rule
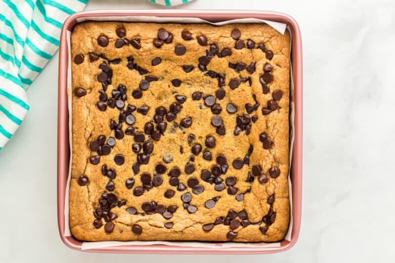
[[[210,22],[238,18],[258,18],[288,25],[292,33],[291,63],[294,80],[292,100],[295,103],[295,141],[292,152],[290,177],[292,182],[292,233],[291,240],[282,240],[279,247],[230,247],[221,246],[187,247],[169,245],[124,245],[84,250],[101,253],[149,253],[149,254],[269,254],[290,249],[295,245],[300,231],[302,210],[302,129],[303,129],[303,74],[302,41],[299,26],[289,15],[271,11],[247,10],[96,10],[84,11],[69,16],[62,28],[59,51],[59,92],[58,92],[58,227],[60,238],[66,246],[81,250],[82,242],[73,236],[65,236],[65,191],[69,172],[69,112],[67,98],[68,45],[66,32],[71,31],[82,17],[108,16],[157,16],[157,17],[197,17]]]

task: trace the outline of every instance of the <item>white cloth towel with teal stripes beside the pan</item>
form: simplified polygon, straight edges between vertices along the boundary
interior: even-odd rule
[[[29,111],[26,89],[58,49],[64,20],[87,1],[0,0],[0,150]]]

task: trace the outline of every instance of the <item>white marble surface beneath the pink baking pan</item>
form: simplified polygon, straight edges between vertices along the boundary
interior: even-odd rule
[[[87,9],[156,8],[90,0]],[[31,110],[0,152],[0,262],[394,262],[395,2],[195,0],[183,8],[276,10],[301,27],[303,216],[275,255],[106,255],[70,250],[56,222],[58,54],[28,90]]]

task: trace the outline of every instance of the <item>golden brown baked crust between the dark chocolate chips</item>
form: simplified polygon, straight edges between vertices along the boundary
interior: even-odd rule
[[[119,26],[126,28],[127,39],[140,38],[141,49],[136,49],[131,45],[123,46],[121,48],[115,47],[115,41],[118,39],[116,29]],[[164,28],[174,35],[174,40],[170,44],[164,44],[161,48],[153,45],[153,39],[157,38],[158,30]],[[268,50],[274,53],[273,59],[268,60],[265,53],[259,49],[235,49],[235,39],[231,38],[231,31],[233,29],[241,31],[241,39],[252,39],[256,45],[264,43]],[[183,30],[189,30],[192,33],[192,40],[184,40],[181,38]],[[98,45],[97,38],[100,35],[106,35],[110,39],[108,46],[102,47]],[[210,78],[204,75],[197,68],[197,61],[200,56],[204,56],[206,49],[209,46],[201,46],[197,43],[197,36],[204,35],[208,39],[208,43],[216,43],[220,47],[220,51],[227,47],[231,48],[232,55],[225,58],[218,58],[214,56],[208,64],[209,70],[217,73],[225,73],[226,85],[223,87],[226,91],[226,96],[223,100],[218,100],[222,107],[222,112],[219,114],[223,119],[226,127],[225,135],[218,135],[215,127],[211,125],[211,118],[215,116],[210,111],[209,107],[204,105],[203,99],[199,101],[192,100],[192,93],[195,91],[202,92],[204,95],[213,95],[218,90],[218,81],[216,78]],[[245,42],[245,41],[244,41]],[[174,52],[176,44],[182,44],[186,47],[185,55],[177,56]],[[288,182],[287,174],[289,169],[288,164],[288,143],[289,143],[289,47],[290,37],[286,32],[284,35],[279,34],[268,25],[262,24],[233,24],[221,27],[214,27],[210,25],[180,25],[180,24],[140,24],[140,23],[121,23],[121,22],[86,22],[78,24],[71,36],[71,54],[72,61],[76,55],[84,55],[84,60],[77,65],[72,63],[72,86],[73,86],[73,152],[72,152],[72,180],[70,187],[70,228],[72,234],[85,241],[104,241],[104,240],[205,240],[205,241],[229,241],[227,233],[231,231],[229,225],[214,225],[213,229],[206,232],[202,229],[202,225],[213,223],[217,217],[226,217],[230,209],[239,212],[243,209],[248,214],[249,221],[260,222],[262,217],[268,214],[270,204],[267,199],[270,195],[275,194],[275,201],[273,204],[273,211],[276,212],[275,222],[268,227],[266,234],[263,234],[259,227],[261,225],[248,225],[247,227],[238,227],[235,232],[237,236],[233,241],[237,242],[252,242],[264,241],[273,242],[281,240],[289,224],[289,200],[288,200]],[[114,130],[110,130],[110,120],[114,119],[118,122],[119,110],[117,108],[108,107],[106,111],[100,111],[96,104],[99,101],[99,90],[102,85],[96,79],[96,75],[101,72],[99,69],[100,63],[104,60],[102,58],[90,62],[88,52],[95,52],[97,54],[103,53],[109,59],[121,58],[119,64],[111,64],[113,69],[112,84],[108,85],[107,95],[110,98],[113,89],[116,89],[119,84],[127,88],[127,101],[125,105],[134,105],[137,108],[143,105],[148,105],[150,110],[147,115],[134,112],[136,122],[133,125],[136,130],[143,132],[146,122],[153,120],[155,109],[158,106],[164,106],[167,110],[169,106],[176,102],[173,92],[178,92],[180,95],[186,96],[187,100],[182,104],[182,110],[177,113],[174,120],[177,123],[185,117],[192,117],[193,124],[190,128],[184,128],[184,132],[178,128],[175,133],[170,133],[170,122],[167,122],[167,129],[164,136],[159,141],[154,141],[154,152],[150,156],[148,164],[140,165],[140,173],[134,175],[132,165],[136,162],[136,153],[131,150],[134,144],[133,136],[125,135],[123,139],[116,140],[114,148],[109,155],[103,155],[97,165],[89,162],[89,157],[97,153],[91,152],[89,143],[97,139],[99,135],[105,135],[106,138],[114,137]],[[134,99],[131,95],[132,90],[138,88],[138,85],[144,75],[140,75],[136,70],[129,70],[127,68],[127,57],[133,55],[134,63],[147,69],[149,74],[159,77],[158,81],[150,83],[147,91],[143,91],[141,99]],[[162,62],[157,66],[152,66],[151,61],[155,57],[160,57]],[[245,63],[249,65],[251,62],[256,62],[256,70],[253,74],[248,74],[246,70],[237,73],[230,69],[229,62]],[[259,77],[263,74],[263,66],[265,63],[270,63],[273,67],[274,80],[269,84],[270,92],[262,93],[262,85]],[[195,69],[190,73],[185,73],[182,69],[183,65],[194,65]],[[238,78],[239,76],[251,77],[252,85],[248,82],[242,82],[237,89],[231,89],[229,81],[231,78]],[[180,87],[174,87],[171,80],[178,78],[182,81]],[[77,87],[82,87],[87,94],[82,97],[77,97],[74,90]],[[268,115],[263,115],[261,110],[266,108],[267,102],[272,100],[272,92],[274,90],[281,90],[282,98],[277,101],[279,109],[273,111]],[[257,111],[249,114],[250,116],[257,115],[258,120],[251,125],[251,133],[246,135],[242,131],[238,136],[234,136],[233,131],[236,128],[236,116],[246,114],[244,105],[250,103],[255,104],[253,96],[260,104]],[[237,106],[237,113],[229,114],[226,111],[228,103],[233,103]],[[201,109],[199,106],[202,106]],[[122,125],[122,130],[128,127],[125,122]],[[268,138],[273,141],[273,146],[269,150],[262,147],[259,135],[262,132],[268,134]],[[188,134],[194,134],[196,141],[190,146],[187,142]],[[202,152],[205,150],[204,140],[207,135],[212,135],[216,139],[216,146],[210,149],[213,159],[207,161],[202,158]],[[149,139],[149,135],[145,135]],[[152,141],[152,140],[151,140]],[[184,173],[184,167],[189,161],[191,147],[199,143],[203,147],[203,151],[195,156],[196,171],[193,174],[187,175]],[[232,166],[232,162],[236,158],[243,159],[247,153],[250,145],[253,146],[253,152],[250,156],[249,165],[244,165],[242,169],[236,170]],[[184,152],[180,153],[180,146],[183,147]],[[163,163],[162,156],[171,153],[173,161],[165,164],[167,171],[162,175],[163,184],[159,187],[154,187],[150,191],[145,191],[141,196],[133,195],[133,189],[141,186],[140,175],[148,172],[153,175],[155,166],[158,163]],[[116,154],[123,154],[125,162],[118,166],[114,162]],[[230,176],[237,178],[236,187],[237,193],[243,193],[251,188],[250,192],[244,195],[244,200],[239,202],[235,199],[236,195],[230,195],[227,190],[216,191],[209,183],[200,179],[200,172],[202,169],[210,170],[216,164],[215,157],[223,154],[227,158],[229,170],[221,178],[224,179]],[[106,190],[106,185],[109,178],[102,175],[101,167],[106,164],[108,168],[114,168],[117,177],[113,180],[115,184],[114,193],[118,199],[125,199],[126,205],[115,207],[111,212],[118,217],[113,220],[115,224],[112,233],[106,233],[104,226],[96,229],[93,225],[95,220],[94,211],[99,205],[98,201],[101,194]],[[251,171],[252,165],[260,165],[262,172],[268,176],[266,184],[260,184],[258,178],[255,177],[253,183],[245,182],[248,172]],[[269,176],[269,169],[271,167],[278,167],[280,175],[274,179]],[[179,177],[180,182],[187,186],[187,181],[191,177],[196,177],[199,184],[204,187],[204,192],[196,195],[192,192],[192,188],[187,187],[185,191],[178,191],[176,187],[169,185],[170,177],[167,172],[173,168],[179,167],[182,171]],[[81,175],[85,175],[89,179],[89,183],[85,186],[79,186],[78,179]],[[128,178],[135,180],[135,185],[132,189],[125,187],[125,181]],[[173,189],[175,191],[174,197],[168,199],[164,197],[166,189]],[[110,191],[107,191],[110,193]],[[191,204],[197,206],[197,212],[189,214],[187,210],[183,209],[183,202],[181,195],[190,192],[193,195]],[[221,198],[216,202],[215,207],[207,209],[204,207],[206,200],[215,196]],[[131,215],[126,212],[126,208],[135,207],[138,212],[143,212],[141,204],[143,202],[156,201],[165,207],[169,205],[177,205],[179,208],[174,213],[170,220],[165,220],[161,214],[153,215]],[[102,219],[102,222],[104,220]],[[173,222],[173,227],[168,229],[164,227],[164,223]],[[141,234],[135,234],[131,231],[132,225],[140,225],[143,229]]]

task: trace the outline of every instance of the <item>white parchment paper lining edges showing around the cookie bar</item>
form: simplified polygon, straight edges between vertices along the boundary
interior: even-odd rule
[[[200,18],[194,17],[155,17],[155,16],[110,16],[110,17],[81,17],[78,18],[77,21],[79,23],[84,21],[124,21],[124,22],[151,22],[151,23],[183,23],[183,24],[211,24],[216,26],[226,25],[226,24],[235,24],[235,23],[255,23],[255,24],[268,24],[273,27],[276,31],[281,34],[284,34],[285,30],[290,30],[287,28],[286,24],[261,20],[256,18],[243,18],[243,19],[233,19],[226,20],[222,22],[212,23],[209,21],[205,21]],[[292,39],[292,36],[291,36]],[[291,40],[292,42],[292,40]],[[67,74],[67,94],[68,94],[68,107],[69,107],[69,142],[70,142],[70,152],[73,150],[72,145],[72,74],[71,74],[71,32],[67,32],[67,44],[68,44],[68,53],[69,53],[69,61],[68,61],[68,74]],[[292,69],[290,72],[290,96],[293,96],[293,77],[292,77]],[[292,149],[294,142],[294,102],[290,99],[290,144],[289,144],[289,164],[291,164],[292,158]],[[70,180],[71,180],[71,158],[69,165],[69,176],[67,179],[67,186],[65,192],[65,236],[71,236],[70,225],[69,225],[69,195],[70,195]],[[290,180],[290,169],[288,172],[288,189],[289,189],[289,204],[290,204],[290,221],[289,228],[287,233],[285,234],[284,239],[290,241],[291,233],[292,233],[292,184]],[[104,247],[114,247],[114,246],[125,246],[125,245],[169,245],[169,246],[181,246],[181,247],[201,247],[201,248],[230,248],[230,247],[279,247],[280,242],[274,243],[264,243],[264,242],[252,242],[252,243],[240,243],[240,242],[195,242],[195,241],[103,241],[103,242],[82,242],[82,250],[94,249],[94,248],[104,248]]]

